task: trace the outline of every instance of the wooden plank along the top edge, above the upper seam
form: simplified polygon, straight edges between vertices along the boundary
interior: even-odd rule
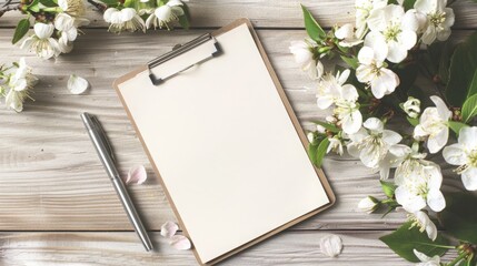
[[[309,8],[322,27],[354,22],[355,0],[190,0],[192,27],[222,27],[239,18],[249,18],[256,27],[304,27],[300,3]],[[87,3],[90,27],[106,28],[101,14]],[[456,29],[471,29],[477,23],[477,4],[469,0],[457,0],[453,4]],[[19,12],[8,12],[0,19],[0,27],[14,27]]]

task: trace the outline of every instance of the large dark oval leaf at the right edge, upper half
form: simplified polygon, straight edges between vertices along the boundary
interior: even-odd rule
[[[447,100],[454,106],[461,106],[468,94],[469,84],[477,69],[477,32],[460,43],[450,59]]]

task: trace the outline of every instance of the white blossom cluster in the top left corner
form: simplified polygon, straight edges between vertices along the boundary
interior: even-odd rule
[[[60,12],[52,22],[37,22],[34,34],[23,40],[21,48],[29,49],[42,59],[58,57],[71,52],[72,42],[77,39],[79,27],[89,23],[82,18],[85,4],[82,0],[58,0]]]

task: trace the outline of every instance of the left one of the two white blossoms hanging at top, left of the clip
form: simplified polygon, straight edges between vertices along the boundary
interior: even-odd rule
[[[135,32],[137,30],[146,31],[146,24],[142,18],[137,13],[133,8],[125,8],[118,10],[109,8],[105,11],[103,19],[110,23],[109,31],[119,33],[123,30]]]

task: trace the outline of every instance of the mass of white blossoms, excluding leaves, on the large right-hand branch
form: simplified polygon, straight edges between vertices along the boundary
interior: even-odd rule
[[[435,106],[421,113],[420,101],[409,98],[400,108],[416,126],[407,144],[403,144],[400,134],[385,129],[386,114],[378,115],[372,109],[399,86],[399,76],[392,70],[405,64],[413,50],[448,39],[455,17],[446,6],[447,0],[417,0],[411,9],[405,9],[387,0],[357,0],[355,24],[335,27],[320,37],[322,40],[315,37],[290,47],[296,62],[317,83],[318,108],[332,112],[326,119],[331,127],[318,127],[310,141],[327,137],[327,152],[339,154],[346,146],[351,156],[379,172],[381,180],[387,180],[395,168],[395,201],[408,212],[414,226],[426,231],[431,239],[437,229],[425,209],[440,212],[446,201],[440,192],[440,167],[426,160],[423,143],[431,154],[444,149],[445,160],[458,165],[456,172],[463,175],[465,187],[475,191],[477,127],[464,127],[458,143],[445,147],[453,112],[440,98],[431,96]],[[321,61],[334,55],[340,55],[354,70],[339,70],[335,75],[326,72]],[[355,76],[350,78],[351,73]],[[359,208],[371,213],[380,205],[380,201],[367,197]]]

